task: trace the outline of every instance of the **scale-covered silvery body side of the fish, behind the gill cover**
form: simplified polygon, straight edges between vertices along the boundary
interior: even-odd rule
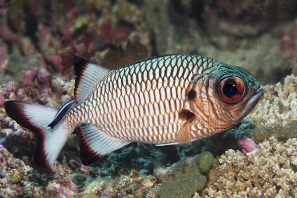
[[[101,132],[121,141],[175,142],[184,122],[178,112],[186,89],[196,74],[213,64],[207,57],[168,55],[112,70],[82,103],[82,122],[96,124]],[[196,134],[192,132],[194,138]]]

